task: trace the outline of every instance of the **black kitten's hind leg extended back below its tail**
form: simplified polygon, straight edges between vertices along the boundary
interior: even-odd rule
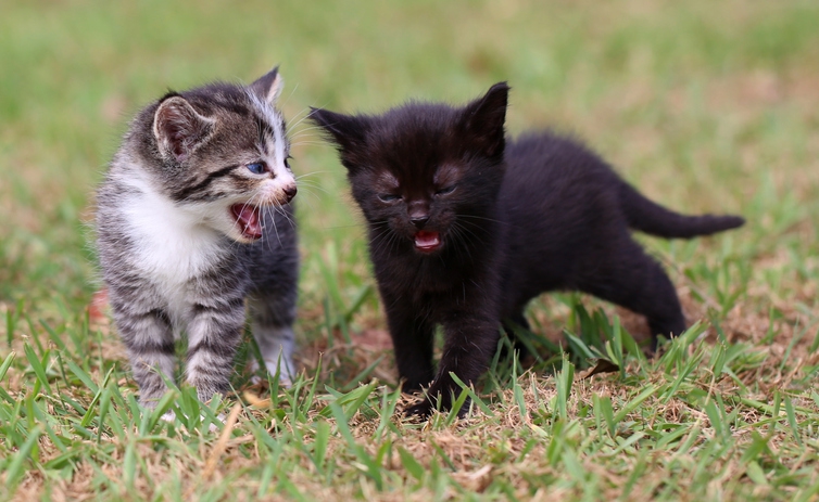
[[[645,316],[653,349],[657,335],[673,337],[685,331],[677,291],[657,261],[630,240],[625,249],[610,257],[584,278],[582,291]]]

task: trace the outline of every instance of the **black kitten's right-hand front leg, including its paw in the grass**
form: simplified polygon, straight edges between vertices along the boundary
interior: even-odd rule
[[[464,384],[471,385],[487,370],[497,339],[501,336],[497,319],[480,317],[480,308],[469,312],[458,312],[443,322],[445,340],[438,376],[427,389],[427,398],[406,410],[407,414],[429,416],[439,404],[441,410],[452,408],[452,401],[462,391],[452,378],[454,373]],[[463,416],[469,409],[467,400],[458,410]]]

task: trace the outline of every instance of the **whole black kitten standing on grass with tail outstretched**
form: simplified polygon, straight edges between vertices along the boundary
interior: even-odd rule
[[[508,87],[465,107],[410,103],[383,115],[314,108],[369,227],[370,257],[408,413],[446,409],[486,370],[503,321],[528,327],[530,299],[579,289],[644,314],[653,334],[685,329],[673,285],[629,229],[692,237],[743,224],[648,201],[594,153],[551,132],[507,140]],[[445,340],[438,372],[432,336]],[[463,410],[462,410],[463,411]]]

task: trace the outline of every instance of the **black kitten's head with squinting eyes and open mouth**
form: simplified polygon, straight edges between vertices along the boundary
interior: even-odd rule
[[[408,103],[378,116],[314,108],[311,118],[338,146],[373,229],[398,237],[394,245],[437,253],[474,240],[493,217],[508,90],[495,83],[459,108]]]

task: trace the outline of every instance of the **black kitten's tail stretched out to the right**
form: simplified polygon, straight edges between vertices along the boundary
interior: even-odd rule
[[[709,235],[745,223],[745,218],[740,216],[685,216],[673,213],[648,201],[626,182],[620,188],[620,206],[630,228],[666,239]]]

